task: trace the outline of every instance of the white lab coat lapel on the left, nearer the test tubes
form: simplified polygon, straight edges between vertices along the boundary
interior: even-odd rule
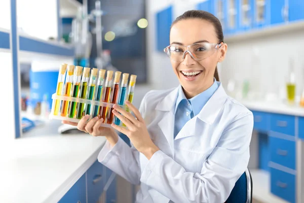
[[[174,107],[177,97],[178,87],[173,89],[160,103],[156,106],[157,111],[162,111],[162,119],[158,122],[158,126],[162,130],[171,147],[171,152],[174,152],[173,133],[174,133]]]

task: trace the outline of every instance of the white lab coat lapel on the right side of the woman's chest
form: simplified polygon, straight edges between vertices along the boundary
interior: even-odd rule
[[[207,101],[206,105],[200,111],[200,113],[188,122],[186,122],[186,124],[181,128],[181,130],[175,137],[175,140],[199,134],[200,131],[202,131],[203,127],[201,124],[198,124],[200,120],[205,122],[207,125],[211,125],[219,114],[226,99],[227,94],[225,93],[222,85],[220,84],[214,94]]]

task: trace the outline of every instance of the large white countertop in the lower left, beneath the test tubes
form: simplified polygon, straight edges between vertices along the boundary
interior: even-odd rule
[[[1,202],[57,202],[96,161],[104,137],[27,137],[0,143]]]

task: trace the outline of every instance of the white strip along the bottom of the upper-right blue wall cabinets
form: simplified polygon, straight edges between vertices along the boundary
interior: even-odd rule
[[[234,43],[254,38],[267,37],[271,35],[277,35],[280,33],[286,33],[290,31],[304,30],[304,21],[287,22],[284,24],[270,25],[268,27],[261,27],[257,29],[250,29],[242,33],[238,33],[233,36],[227,36],[224,38],[225,43]]]

